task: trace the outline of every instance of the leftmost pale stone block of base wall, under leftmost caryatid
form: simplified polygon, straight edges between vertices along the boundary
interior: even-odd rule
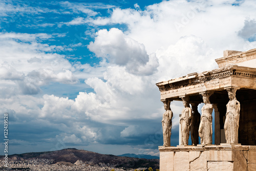
[[[160,170],[174,170],[174,152],[160,152]]]

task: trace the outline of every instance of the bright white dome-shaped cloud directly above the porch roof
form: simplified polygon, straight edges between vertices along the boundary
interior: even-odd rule
[[[175,45],[159,49],[156,54],[159,58],[158,81],[217,68],[214,50],[194,35],[181,37]]]

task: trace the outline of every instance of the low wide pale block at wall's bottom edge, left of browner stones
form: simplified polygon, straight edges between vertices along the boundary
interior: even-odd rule
[[[233,162],[230,162],[230,161],[208,161],[207,171],[233,171]]]

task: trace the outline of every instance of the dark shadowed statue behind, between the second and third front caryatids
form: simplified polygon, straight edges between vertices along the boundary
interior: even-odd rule
[[[199,129],[201,115],[198,112],[197,106],[198,106],[198,103],[191,103],[191,108],[193,111],[192,119],[191,119],[191,130],[190,130],[192,145],[199,144],[198,129]]]

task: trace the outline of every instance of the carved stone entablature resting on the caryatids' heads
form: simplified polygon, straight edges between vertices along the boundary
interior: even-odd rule
[[[162,81],[156,84],[161,93],[161,100],[169,98],[179,100],[180,96],[198,95],[206,91],[222,91],[227,87],[256,90],[256,68],[228,65],[223,68],[192,73],[187,76]]]

